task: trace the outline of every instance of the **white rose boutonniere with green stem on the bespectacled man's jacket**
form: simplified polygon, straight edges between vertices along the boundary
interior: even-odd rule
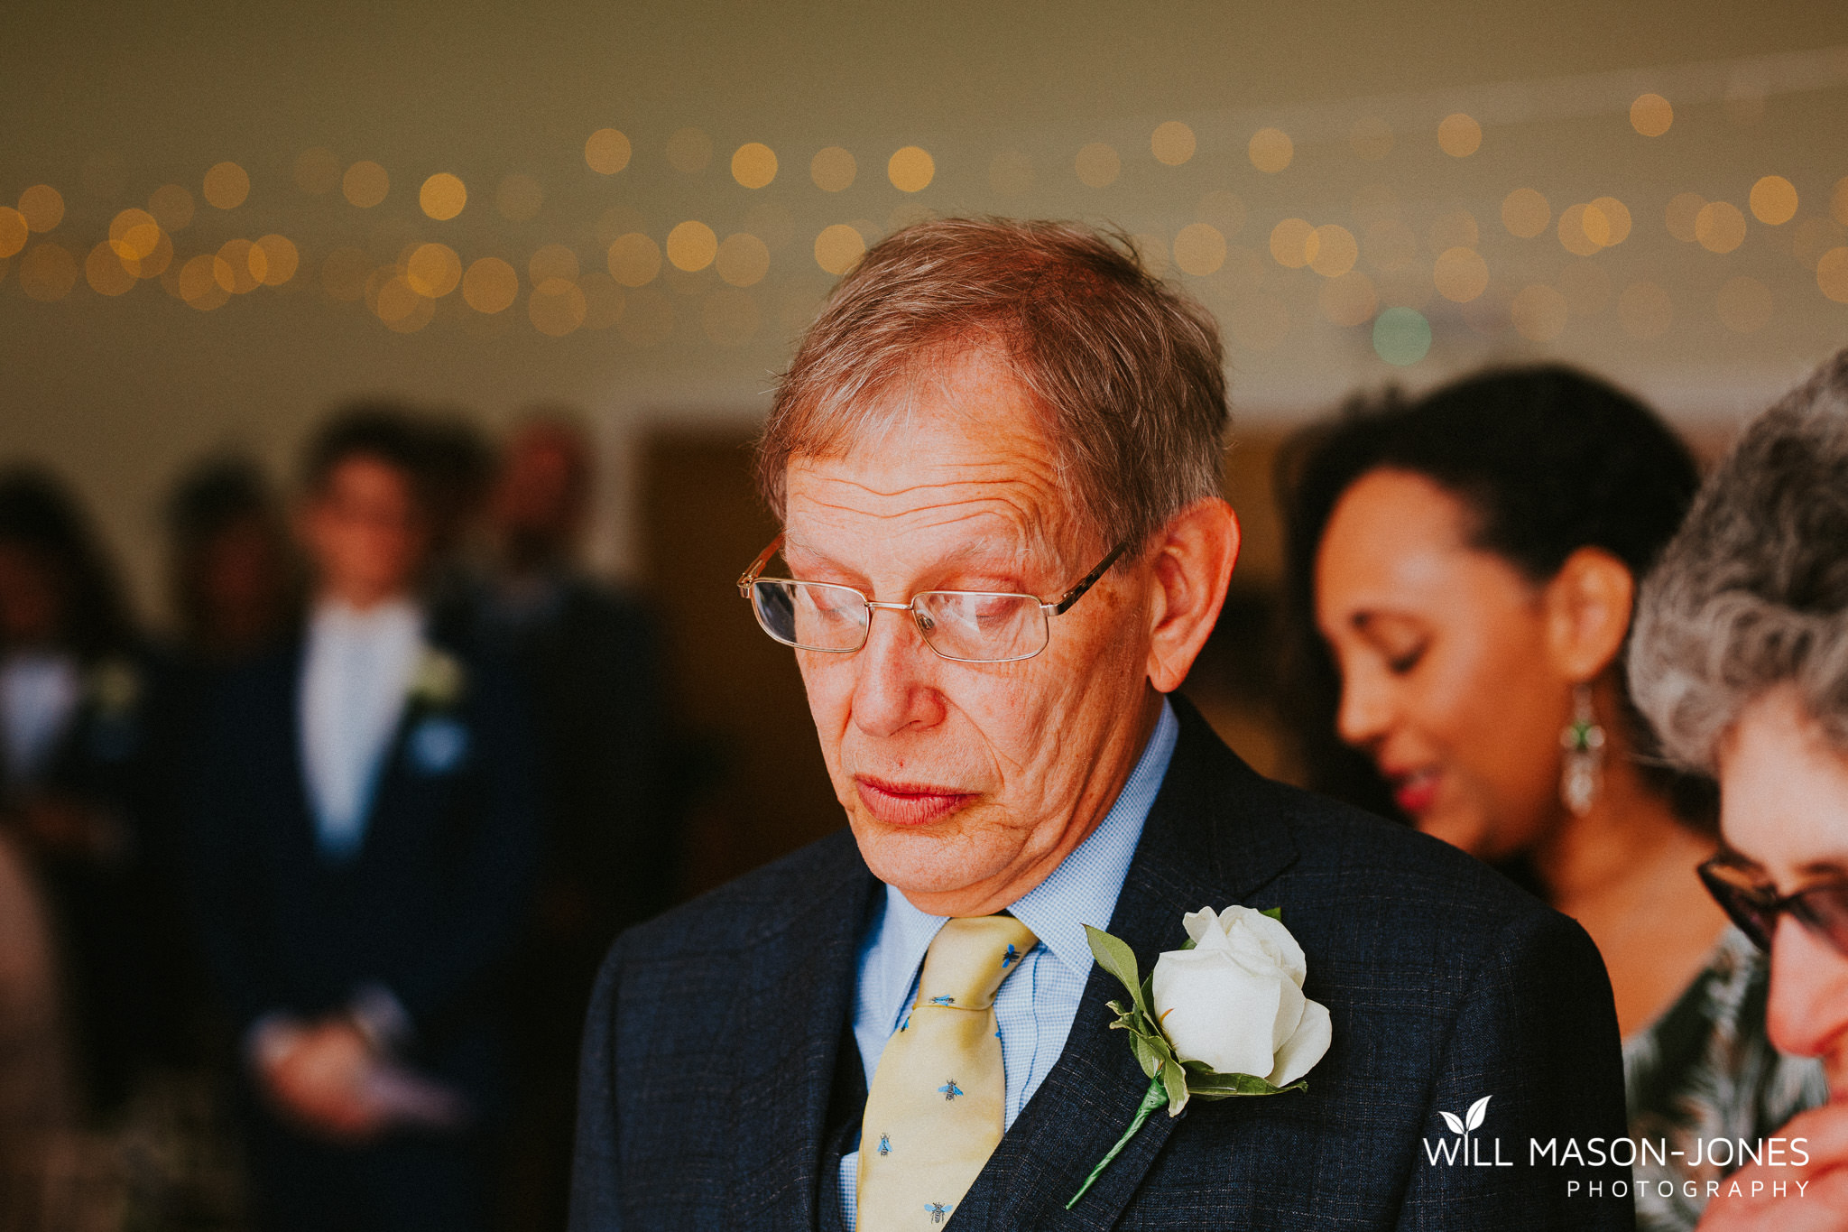
[[[1149,1088],[1066,1210],[1162,1105],[1168,1116],[1181,1116],[1188,1099],[1308,1090],[1303,1075],[1329,1051],[1332,1029],[1329,1009],[1303,996],[1308,962],[1281,914],[1275,907],[1190,911],[1181,918],[1186,942],[1164,951],[1148,979],[1129,946],[1085,925],[1098,966],[1129,990],[1127,1007],[1111,1001],[1111,1029],[1129,1033]]]

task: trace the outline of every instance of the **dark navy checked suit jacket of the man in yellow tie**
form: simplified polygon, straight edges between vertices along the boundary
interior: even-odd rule
[[[946,1226],[1630,1228],[1624,1171],[1530,1164],[1530,1138],[1558,1158],[1624,1134],[1584,931],[1434,839],[1264,779],[1175,709],[1109,931],[1148,972],[1186,911],[1281,907],[1334,1042],[1308,1092],[1157,1114],[1068,1212],[1148,1086],[1094,968],[1064,1055]],[[617,940],[584,1040],[573,1232],[837,1223],[830,1103],[837,1119],[835,1088],[857,1084],[845,1025],[874,887],[839,833]],[[1484,1166],[1465,1166],[1440,1112],[1484,1095]]]

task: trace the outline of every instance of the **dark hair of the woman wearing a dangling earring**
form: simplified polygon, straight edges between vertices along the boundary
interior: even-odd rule
[[[1560,364],[1465,377],[1419,399],[1388,392],[1294,436],[1277,462],[1284,513],[1284,707],[1318,791],[1395,816],[1386,783],[1334,730],[1342,678],[1316,632],[1316,552],[1342,495],[1377,469],[1423,475],[1469,508],[1473,545],[1543,584],[1582,547],[1641,582],[1700,486],[1687,445],[1648,406]],[[1711,827],[1711,783],[1661,765],[1617,663],[1623,720],[1645,783]]]

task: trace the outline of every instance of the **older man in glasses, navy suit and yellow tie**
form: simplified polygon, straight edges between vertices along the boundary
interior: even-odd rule
[[[760,447],[784,534],[739,586],[796,648],[850,833],[615,944],[577,1232],[1630,1226],[1586,935],[1168,696],[1238,554],[1222,364],[1076,225],[920,223],[833,292]],[[1205,983],[1157,973],[1142,1025],[1288,1090],[1168,1116],[1085,925],[1140,972],[1199,940]]]

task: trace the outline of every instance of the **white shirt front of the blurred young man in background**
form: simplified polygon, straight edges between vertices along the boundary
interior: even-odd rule
[[[301,663],[301,767],[323,855],[366,840],[379,772],[423,654],[423,613],[407,598],[364,611],[323,600]]]

